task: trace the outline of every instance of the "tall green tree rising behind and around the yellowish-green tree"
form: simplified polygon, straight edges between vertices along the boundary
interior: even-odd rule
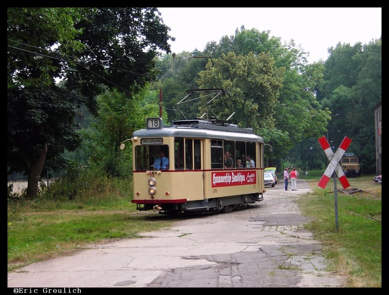
[[[325,108],[320,109],[316,99],[318,84],[323,80],[324,66],[322,63],[307,65],[306,55],[308,53],[304,52],[301,46],[296,45],[293,40],[282,44],[281,38],[271,36],[270,31],[261,32],[254,28],[247,30],[244,26],[240,30],[236,29],[235,35],[225,35],[220,38],[219,42],[207,43],[203,52],[192,52],[192,56],[210,56],[211,60],[217,60],[223,54],[227,56],[231,52],[234,52],[236,56],[252,54],[256,57],[272,58],[274,60],[272,67],[283,70],[282,87],[279,89],[276,99],[270,101],[272,104],[271,112],[266,110],[268,104],[259,105],[259,111],[263,111],[265,116],[272,117],[270,125],[266,124],[266,127],[259,129],[259,134],[263,136],[266,143],[273,146],[274,150],[273,153],[265,150],[266,160],[269,160],[270,163],[279,161],[288,154],[290,148],[296,143],[326,132],[330,112]],[[185,89],[183,85],[193,85],[192,88],[200,86],[199,72],[205,70],[205,63],[209,58],[187,59],[185,65],[175,67],[175,75],[169,77],[169,82],[162,82],[164,102],[169,105],[169,108],[172,109],[172,106],[183,98],[184,91],[188,89],[188,87]],[[171,80],[173,82],[170,82]],[[209,87],[205,84],[203,86]],[[253,86],[255,87],[255,83]],[[217,87],[221,87],[221,84],[219,83]],[[224,87],[231,91],[227,84]],[[180,95],[178,95],[178,90],[181,91]],[[253,93],[255,96],[255,90]],[[251,91],[247,97],[250,96]],[[242,105],[245,108],[248,107],[249,110],[249,100],[244,100],[244,104],[240,102],[235,104],[234,102],[231,107],[235,110]],[[228,115],[224,114],[224,119],[231,112],[229,110]],[[192,114],[193,112],[188,113]],[[170,111],[169,118],[177,118],[177,116],[173,111]],[[237,118],[237,114],[235,114],[232,119],[236,121]],[[251,127],[253,126],[251,123],[255,126],[257,121],[261,121],[261,123],[264,121],[263,118],[252,119],[254,122],[248,124],[245,116],[240,118],[246,120],[240,122],[241,126]]]

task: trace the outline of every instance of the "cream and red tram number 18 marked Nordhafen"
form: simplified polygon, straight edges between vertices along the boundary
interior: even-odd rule
[[[148,118],[147,128],[135,131],[131,141],[132,203],[138,210],[230,211],[263,200],[264,140],[251,128],[202,120],[165,126],[161,118]],[[160,151],[168,165],[155,165]],[[234,163],[229,169],[224,166],[226,152]],[[241,168],[236,167],[238,158]]]

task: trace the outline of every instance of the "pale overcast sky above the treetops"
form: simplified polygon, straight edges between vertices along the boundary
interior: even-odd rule
[[[202,51],[210,41],[219,42],[224,35],[234,35],[236,28],[270,31],[282,42],[295,40],[308,62],[326,60],[327,49],[338,42],[369,43],[382,34],[382,9],[377,8],[177,8],[159,7],[175,53]]]

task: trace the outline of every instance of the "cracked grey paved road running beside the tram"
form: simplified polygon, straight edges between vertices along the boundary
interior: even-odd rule
[[[8,273],[8,287],[341,287],[302,228],[309,218],[295,200],[311,190],[300,179],[297,188],[279,182],[247,209],[180,217],[143,238],[30,264]]]

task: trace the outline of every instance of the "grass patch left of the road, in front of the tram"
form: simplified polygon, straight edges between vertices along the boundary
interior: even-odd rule
[[[139,237],[168,227],[156,212],[138,212],[128,198],[14,202],[8,204],[8,270],[66,255],[88,243]]]

